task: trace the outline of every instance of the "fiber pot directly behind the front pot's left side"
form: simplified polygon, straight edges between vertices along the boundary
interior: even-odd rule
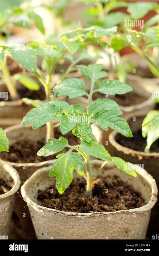
[[[57,128],[60,129],[60,128]],[[21,138],[31,138],[35,141],[40,139],[45,139],[46,135],[46,126],[42,126],[37,130],[32,129],[32,125],[24,126],[14,125],[5,129],[7,137],[9,139],[10,145],[12,145],[17,139]],[[92,126],[93,137],[96,138],[98,143],[101,142],[101,133],[99,131],[98,126]],[[62,136],[62,135],[61,135]],[[45,160],[45,157],[44,157]],[[6,162],[11,164],[19,173],[21,182],[26,181],[38,168],[43,166],[48,166],[53,164],[55,160],[48,160],[40,163],[14,163],[14,162]],[[14,229],[16,234],[23,239],[34,239],[36,238],[34,233],[34,228],[32,226],[30,214],[28,212],[28,208],[24,207],[24,201],[16,196],[16,200],[14,203]],[[23,214],[25,214],[25,218],[23,218]]]

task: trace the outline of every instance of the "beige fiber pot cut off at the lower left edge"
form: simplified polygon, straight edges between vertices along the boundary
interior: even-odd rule
[[[15,193],[20,187],[20,179],[17,171],[3,161],[0,161],[0,178],[12,187],[7,193],[0,195],[0,236],[5,236],[9,233]]]

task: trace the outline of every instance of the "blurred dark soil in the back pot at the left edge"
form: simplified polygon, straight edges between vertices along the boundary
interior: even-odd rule
[[[27,88],[19,89],[18,90],[18,99],[22,99],[22,98],[30,98],[32,100],[44,100],[45,99],[45,92],[40,89],[38,91],[32,91],[29,90]],[[4,99],[0,98],[0,101],[4,101]],[[11,97],[10,94],[8,93],[8,101],[11,101]]]

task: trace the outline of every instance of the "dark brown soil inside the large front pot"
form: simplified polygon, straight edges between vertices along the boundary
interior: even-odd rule
[[[140,193],[125,184],[117,176],[99,178],[93,182],[93,197],[85,196],[86,181],[73,179],[63,194],[55,185],[38,191],[40,205],[65,212],[115,212],[145,205]],[[53,193],[52,190],[53,189]],[[107,192],[108,189],[108,193]]]

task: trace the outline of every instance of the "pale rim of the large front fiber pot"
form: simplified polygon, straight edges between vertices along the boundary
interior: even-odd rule
[[[103,161],[102,160],[91,160],[91,164],[96,164],[96,163],[102,164]],[[109,163],[107,165],[107,168],[114,168],[116,167],[114,164]],[[106,166],[105,166],[106,168]],[[116,167],[117,168],[117,167]],[[34,209],[36,209],[37,211],[47,211],[47,212],[54,212],[54,213],[58,213],[58,214],[62,214],[62,215],[69,215],[69,216],[92,216],[92,215],[112,215],[112,214],[117,214],[120,212],[125,212],[125,213],[131,213],[131,212],[137,212],[137,213],[142,213],[142,212],[146,212],[150,209],[152,209],[152,207],[155,205],[156,201],[157,201],[157,193],[158,193],[158,189],[157,189],[157,185],[156,185],[156,181],[153,179],[153,177],[143,168],[141,168],[140,166],[135,166],[135,170],[137,171],[137,173],[139,175],[141,175],[146,182],[151,185],[151,199],[150,201],[139,208],[134,208],[134,209],[130,209],[130,210],[120,210],[120,211],[116,211],[116,212],[94,212],[94,213],[73,213],[73,212],[64,212],[64,211],[59,211],[59,210],[55,210],[55,209],[49,209],[47,207],[38,205],[37,203],[35,203],[33,200],[30,199],[30,197],[27,195],[27,191],[26,191],[26,187],[28,186],[28,184],[30,182],[34,182],[34,179],[37,175],[40,175],[41,172],[49,172],[50,166],[47,167],[43,167],[41,169],[38,169],[36,172],[34,172],[32,174],[32,176],[24,182],[24,184],[21,186],[21,195],[24,199],[25,202],[27,202],[27,204],[31,205]]]

